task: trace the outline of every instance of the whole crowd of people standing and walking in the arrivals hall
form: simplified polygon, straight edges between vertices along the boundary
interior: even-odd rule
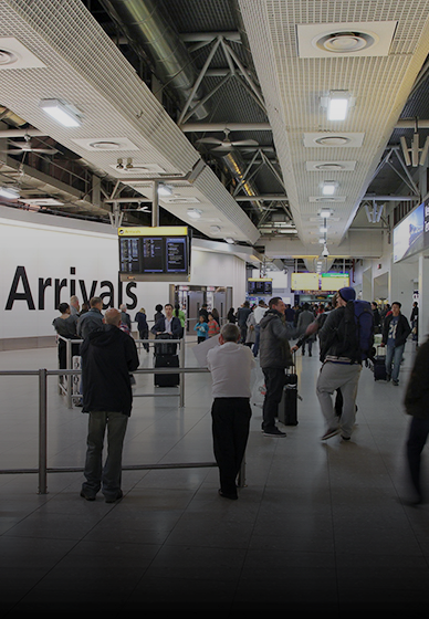
[[[357,387],[363,360],[373,350],[362,349],[354,312],[356,293],[343,287],[325,304],[304,303],[292,307],[281,297],[250,305],[245,301],[237,312],[231,307],[227,323],[221,326],[219,314],[203,305],[195,325],[197,342],[218,336],[218,345],[207,353],[207,365],[212,377],[212,439],[219,468],[222,497],[237,500],[237,476],[245,452],[251,408],[251,370],[259,357],[264,377],[264,401],[261,430],[270,438],[285,438],[276,424],[285,375],[295,365],[294,354],[301,348],[312,356],[318,339],[320,360],[316,396],[325,420],[322,440],[341,434],[344,441],[352,437],[356,417]],[[365,303],[365,302],[364,302]],[[350,305],[352,304],[352,305]],[[369,306],[369,304],[367,304]],[[108,308],[103,315],[103,300],[93,297],[87,307],[80,307],[72,297],[62,303],[60,316],[53,326],[59,338],[60,368],[66,367],[65,339],[80,339],[73,354],[82,360],[82,410],[88,413],[87,451],[81,495],[94,501],[102,490],[106,502],[122,499],[122,451],[127,420],[133,406],[132,374],[139,366],[136,343],[132,337],[132,319],[125,305]],[[180,339],[186,328],[186,315],[178,305],[167,303],[155,307],[154,326],[149,329],[146,311],[135,316],[140,339],[168,335]],[[376,303],[370,314],[370,337],[379,336],[386,347],[387,380],[397,386],[404,348],[411,331],[417,329],[418,307],[414,306],[411,325],[401,314],[401,304],[394,302],[381,310]],[[353,329],[350,331],[350,325]],[[292,340],[295,343],[292,345]],[[369,339],[368,339],[369,342]],[[373,339],[370,339],[373,342]],[[148,350],[148,343],[145,343]],[[429,413],[426,397],[429,344],[420,347],[406,390],[405,406],[412,416],[407,441],[410,478],[415,503],[421,502],[420,457],[429,436]],[[336,400],[334,401],[334,397]],[[338,405],[339,402],[339,405]],[[107,457],[102,464],[103,443],[107,436]]]

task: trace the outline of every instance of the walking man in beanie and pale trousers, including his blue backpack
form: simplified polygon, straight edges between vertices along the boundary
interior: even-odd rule
[[[337,308],[328,314],[320,331],[323,366],[316,394],[326,421],[322,440],[341,432],[342,439],[347,441],[355,423],[362,363],[373,349],[374,316],[369,302],[356,301],[354,288],[341,288],[338,295]],[[339,420],[333,403],[336,389],[341,389],[343,396]]]

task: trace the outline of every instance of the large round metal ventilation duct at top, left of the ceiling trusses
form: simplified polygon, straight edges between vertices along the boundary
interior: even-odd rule
[[[177,93],[185,104],[197,80],[192,59],[185,43],[157,8],[156,0],[101,0],[111,18],[119,25],[134,50],[148,57],[158,80]],[[193,104],[201,93],[197,91]],[[201,120],[209,114],[205,105],[193,118]]]

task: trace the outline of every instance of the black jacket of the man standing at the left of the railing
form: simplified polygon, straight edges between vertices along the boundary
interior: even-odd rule
[[[129,373],[139,365],[134,338],[115,325],[93,331],[81,346],[83,412],[115,411],[129,417]]]

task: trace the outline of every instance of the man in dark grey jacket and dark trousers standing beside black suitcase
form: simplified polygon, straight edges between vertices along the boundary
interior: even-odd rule
[[[265,398],[262,408],[262,431],[265,437],[284,438],[275,426],[284,387],[284,370],[293,365],[290,332],[284,319],[285,305],[280,296],[269,302],[269,310],[260,322],[260,365],[265,377]]]

